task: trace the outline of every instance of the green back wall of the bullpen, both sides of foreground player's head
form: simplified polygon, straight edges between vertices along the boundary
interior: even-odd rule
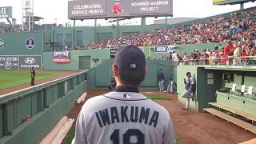
[[[89,70],[87,73],[88,90],[107,90],[111,79],[111,66],[113,60],[103,61],[100,65]],[[147,74],[141,84],[141,90],[158,90],[158,70],[162,69],[165,74],[165,88],[170,77],[174,77],[174,71],[170,67],[170,61],[150,60],[146,62]]]

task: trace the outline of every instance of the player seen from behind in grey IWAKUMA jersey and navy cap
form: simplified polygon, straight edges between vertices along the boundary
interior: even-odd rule
[[[136,46],[119,48],[114,92],[90,98],[78,115],[73,144],[174,144],[168,111],[140,94],[146,60]]]

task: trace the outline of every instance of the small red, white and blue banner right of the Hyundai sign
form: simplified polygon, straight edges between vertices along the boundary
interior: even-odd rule
[[[53,63],[70,63],[70,51],[54,51]]]

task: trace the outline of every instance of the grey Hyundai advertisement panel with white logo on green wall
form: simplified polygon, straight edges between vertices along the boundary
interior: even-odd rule
[[[19,56],[19,69],[26,70],[34,67],[35,69],[42,69],[42,56],[41,55],[22,55]]]

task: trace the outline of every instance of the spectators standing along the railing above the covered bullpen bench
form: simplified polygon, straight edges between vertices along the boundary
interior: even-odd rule
[[[193,50],[180,56],[171,54],[173,62],[177,64],[210,64],[210,65],[246,65],[256,62],[256,42],[246,40],[239,42],[228,41],[223,48],[218,46],[214,50]]]

